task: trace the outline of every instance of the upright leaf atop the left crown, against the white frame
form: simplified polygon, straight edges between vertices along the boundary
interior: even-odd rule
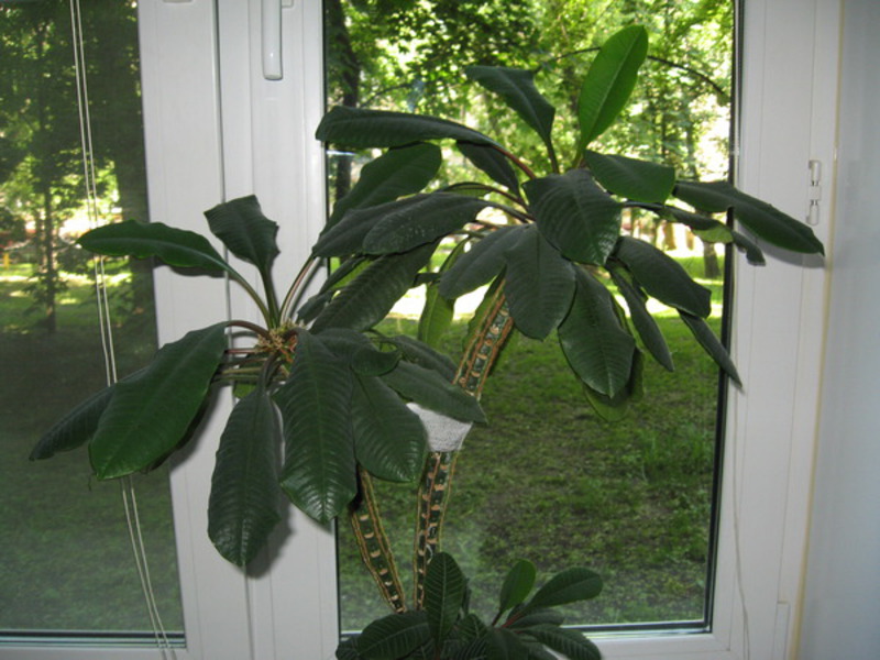
[[[254,264],[267,277],[278,255],[278,226],[263,215],[253,195],[240,197],[205,211],[211,232],[229,251]]]

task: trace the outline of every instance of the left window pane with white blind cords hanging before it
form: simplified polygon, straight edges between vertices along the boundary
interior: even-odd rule
[[[0,631],[151,631],[119,483],[84,449],[29,462],[37,439],[107,384],[67,0],[0,2]],[[136,3],[82,3],[100,222],[146,221]],[[146,264],[109,260],[118,373],[155,350]],[[136,480],[158,608],[180,630],[167,474]],[[152,632],[151,632],[152,635]]]

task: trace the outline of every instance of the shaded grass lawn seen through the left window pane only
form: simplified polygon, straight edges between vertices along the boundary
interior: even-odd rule
[[[0,272],[0,630],[150,630],[118,483],[85,451],[32,463],[40,435],[106,383],[94,289],[72,279],[58,331],[22,295],[28,268]],[[120,374],[155,350],[152,315],[117,306]],[[151,571],[168,629],[180,629],[167,475],[136,483]]]

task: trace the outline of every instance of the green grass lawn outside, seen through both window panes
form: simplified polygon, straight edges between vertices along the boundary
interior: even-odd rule
[[[686,264],[695,266],[695,264]],[[30,463],[52,421],[103,385],[86,280],[69,284],[47,336],[20,295],[26,271],[0,273],[0,629],[148,629],[119,486],[96,483],[84,451]],[[705,283],[719,296],[718,283]],[[131,306],[119,302],[120,312]],[[150,314],[119,317],[120,373],[152,354]],[[569,623],[700,619],[708,558],[717,371],[675,318],[661,316],[675,373],[648,361],[645,397],[625,420],[586,405],[556,341],[520,338],[483,395],[490,425],[461,453],[443,547],[490,612],[516,559],[541,579],[580,564],[606,583]],[[717,319],[713,319],[717,324]],[[392,321],[413,332],[413,321]],[[461,331],[461,328],[459,328]],[[459,339],[450,337],[454,358]],[[169,629],[182,627],[166,476],[140,480],[151,568]],[[411,558],[411,486],[380,484],[402,563]],[[341,525],[343,627],[383,613]]]

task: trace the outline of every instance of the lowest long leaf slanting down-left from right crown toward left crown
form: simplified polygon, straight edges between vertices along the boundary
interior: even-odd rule
[[[409,290],[416,273],[428,263],[433,250],[435,245],[428,244],[378,257],[337,294],[315,319],[312,329],[317,332],[327,328],[372,328]]]

